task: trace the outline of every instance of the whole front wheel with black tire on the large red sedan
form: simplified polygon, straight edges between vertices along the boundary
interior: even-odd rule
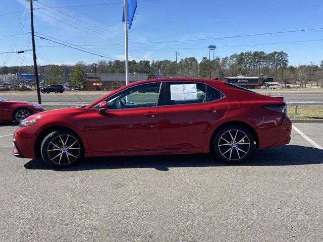
[[[62,144],[61,139],[65,144]],[[75,141],[78,143],[74,143]],[[73,143],[74,145],[72,145]],[[71,147],[67,148],[69,146]],[[80,138],[74,133],[64,129],[48,134],[41,143],[40,152],[45,163],[56,168],[75,165],[80,162],[84,156],[84,148]]]

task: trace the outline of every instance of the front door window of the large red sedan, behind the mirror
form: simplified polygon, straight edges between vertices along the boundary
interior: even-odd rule
[[[108,108],[124,109],[157,106],[160,84],[160,82],[149,83],[126,89],[119,95],[106,100]]]

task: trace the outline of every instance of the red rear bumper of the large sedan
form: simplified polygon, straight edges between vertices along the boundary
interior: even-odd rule
[[[292,121],[285,115],[280,125],[270,129],[260,130],[257,133],[259,137],[259,149],[289,144],[292,133]]]

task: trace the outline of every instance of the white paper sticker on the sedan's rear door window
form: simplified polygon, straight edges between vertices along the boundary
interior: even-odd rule
[[[196,100],[196,84],[171,85],[171,100]]]

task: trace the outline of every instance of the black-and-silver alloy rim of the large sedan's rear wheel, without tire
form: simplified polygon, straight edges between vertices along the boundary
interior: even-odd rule
[[[229,160],[244,158],[249,149],[248,136],[241,130],[228,130],[219,139],[219,151],[222,156]]]

